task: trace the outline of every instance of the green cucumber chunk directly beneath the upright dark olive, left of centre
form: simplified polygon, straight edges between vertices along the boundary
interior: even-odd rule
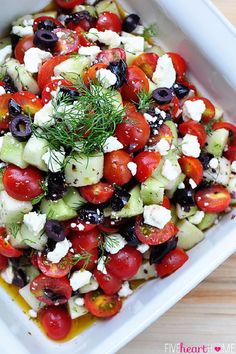
[[[69,220],[76,216],[76,211],[66,205],[63,199],[52,201],[44,198],[40,204],[40,210],[43,214],[47,214],[49,219],[59,221]]]

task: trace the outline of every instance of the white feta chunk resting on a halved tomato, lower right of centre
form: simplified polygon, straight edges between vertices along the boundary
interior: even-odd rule
[[[144,223],[163,229],[171,220],[171,211],[161,205],[145,205],[143,211]]]

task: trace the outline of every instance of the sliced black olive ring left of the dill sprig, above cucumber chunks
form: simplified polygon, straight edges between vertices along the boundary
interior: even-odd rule
[[[28,116],[19,114],[9,124],[10,131],[18,141],[27,141],[32,135],[31,123]]]

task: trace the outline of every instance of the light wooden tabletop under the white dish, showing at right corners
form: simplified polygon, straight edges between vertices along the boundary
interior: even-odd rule
[[[213,3],[236,25],[236,0],[213,0]],[[232,350],[228,353],[236,353],[235,270],[236,255],[228,259],[119,354],[171,353],[168,343],[174,345],[180,342],[214,346],[217,343],[232,343]],[[216,353],[214,349],[212,352]]]

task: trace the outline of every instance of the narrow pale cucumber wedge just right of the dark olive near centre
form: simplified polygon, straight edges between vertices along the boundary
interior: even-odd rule
[[[141,198],[141,189],[139,186],[134,187],[130,191],[130,199],[121,211],[112,213],[112,218],[132,218],[133,216],[143,213],[143,201]]]

